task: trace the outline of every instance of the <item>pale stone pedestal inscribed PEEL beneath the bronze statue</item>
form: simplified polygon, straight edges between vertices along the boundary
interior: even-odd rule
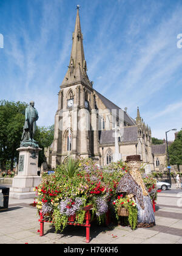
[[[33,188],[41,183],[38,176],[38,152],[41,148],[21,147],[19,151],[18,175],[13,178],[10,197],[16,199],[34,198]]]

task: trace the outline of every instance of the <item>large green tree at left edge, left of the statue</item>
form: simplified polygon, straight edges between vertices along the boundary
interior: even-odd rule
[[[18,152],[24,126],[25,102],[0,101],[0,168],[5,169],[10,160],[10,169],[18,162]]]

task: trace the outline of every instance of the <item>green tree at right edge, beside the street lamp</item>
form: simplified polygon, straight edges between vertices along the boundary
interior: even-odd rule
[[[182,129],[169,146],[169,162],[170,165],[182,165]]]

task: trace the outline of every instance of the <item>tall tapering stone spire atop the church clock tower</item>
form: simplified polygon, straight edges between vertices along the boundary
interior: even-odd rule
[[[87,63],[84,57],[84,48],[83,48],[83,34],[81,33],[81,25],[79,19],[79,5],[76,7],[76,22],[75,30],[72,36],[72,52],[70,55],[70,63],[66,76],[62,81],[62,85],[69,85],[75,82],[82,82],[85,85],[92,87],[92,84],[89,81],[87,76]]]

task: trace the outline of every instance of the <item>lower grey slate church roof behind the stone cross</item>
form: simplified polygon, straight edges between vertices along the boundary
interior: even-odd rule
[[[121,142],[134,143],[137,141],[137,127],[136,126],[126,126],[123,127],[124,132],[119,131],[119,136],[121,135]],[[123,133],[123,134],[122,134]],[[114,144],[115,143],[115,132],[113,130],[101,130],[99,134],[100,144]]]

